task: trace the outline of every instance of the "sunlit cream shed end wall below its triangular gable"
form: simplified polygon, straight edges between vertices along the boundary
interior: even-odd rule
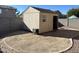
[[[39,29],[39,13],[25,13],[23,21],[28,30]]]

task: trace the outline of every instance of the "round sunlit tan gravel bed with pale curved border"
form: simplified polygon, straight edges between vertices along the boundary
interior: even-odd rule
[[[17,32],[16,32],[17,33]],[[42,35],[26,33],[6,37],[1,45],[4,52],[62,52],[72,46],[72,40],[53,36],[54,32]],[[55,33],[54,33],[55,34]]]

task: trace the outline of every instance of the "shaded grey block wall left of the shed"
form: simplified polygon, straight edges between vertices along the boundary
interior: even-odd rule
[[[22,28],[22,21],[17,17],[0,17],[0,35]]]

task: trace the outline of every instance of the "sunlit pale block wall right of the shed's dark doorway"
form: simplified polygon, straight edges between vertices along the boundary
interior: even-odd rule
[[[58,20],[61,24],[63,24],[66,27],[68,26],[70,28],[79,29],[79,19],[70,19],[69,25],[67,25],[68,24],[67,18],[66,19],[58,19]]]

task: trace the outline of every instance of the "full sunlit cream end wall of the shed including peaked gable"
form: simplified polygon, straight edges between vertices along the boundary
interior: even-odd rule
[[[39,29],[39,11],[30,7],[23,14],[23,22],[25,23],[24,29],[30,31],[33,31],[33,29]]]

